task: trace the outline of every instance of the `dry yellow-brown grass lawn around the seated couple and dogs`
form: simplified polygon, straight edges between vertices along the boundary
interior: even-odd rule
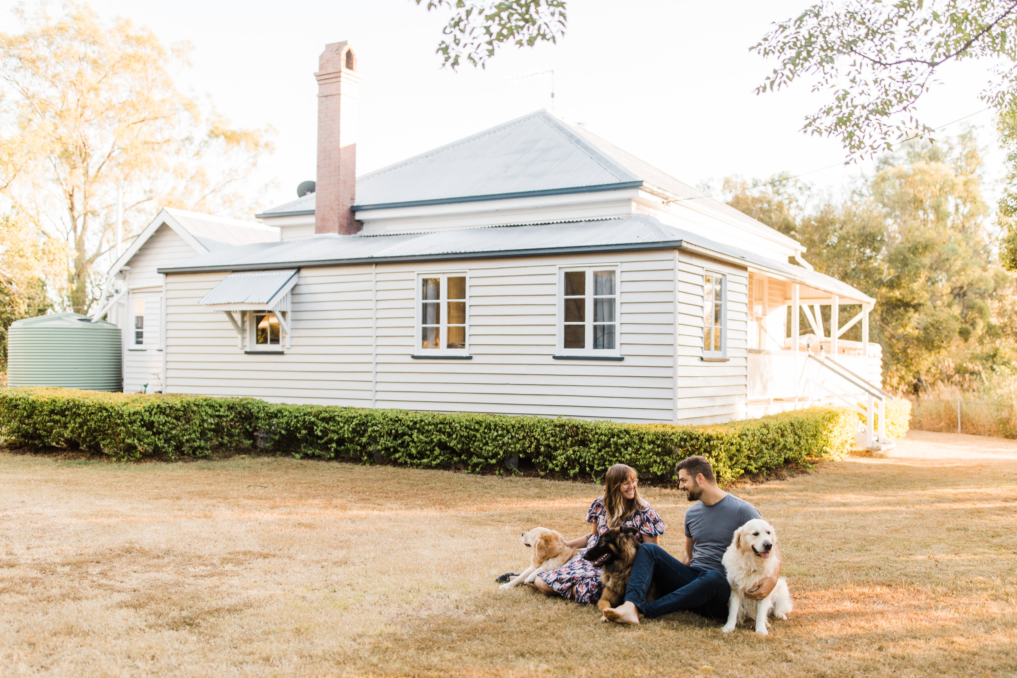
[[[736,494],[781,537],[796,609],[769,637],[499,594],[519,533],[583,533],[592,485],[2,453],[0,675],[1017,673],[1017,443],[919,431]],[[687,502],[646,495],[676,551]]]

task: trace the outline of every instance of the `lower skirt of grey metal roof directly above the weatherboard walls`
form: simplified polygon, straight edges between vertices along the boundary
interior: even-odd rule
[[[275,245],[244,245],[211,252],[177,266],[160,268],[159,272],[264,270],[646,249],[687,249],[771,271],[831,294],[873,301],[860,291],[829,275],[666,226],[648,214],[569,224],[482,227],[388,236],[314,236]]]

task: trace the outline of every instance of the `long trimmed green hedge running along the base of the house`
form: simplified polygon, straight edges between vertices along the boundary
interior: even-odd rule
[[[471,472],[502,469],[506,459],[519,456],[541,473],[593,478],[617,463],[670,476],[674,465],[691,454],[709,457],[722,480],[839,456],[853,443],[856,421],[844,408],[671,426],[271,405],[199,395],[0,390],[0,435],[14,444],[83,447],[118,459],[199,457],[256,445],[296,456]]]

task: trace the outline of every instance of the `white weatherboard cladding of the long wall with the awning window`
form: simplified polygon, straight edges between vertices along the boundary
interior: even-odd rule
[[[559,264],[606,263],[620,263],[624,360],[554,360]],[[416,274],[452,270],[469,274],[473,359],[414,360]],[[371,265],[304,268],[291,297],[294,334],[284,355],[243,354],[225,315],[197,303],[225,275],[170,275],[170,392],[632,422],[673,418],[672,251],[380,264],[376,272]]]

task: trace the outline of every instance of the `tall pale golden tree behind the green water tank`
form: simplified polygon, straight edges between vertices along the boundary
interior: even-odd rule
[[[47,282],[84,312],[113,246],[118,186],[128,233],[157,206],[235,210],[271,130],[231,128],[176,88],[186,45],[171,53],[127,19],[104,25],[87,5],[15,13],[23,30],[0,34],[0,190],[9,209],[67,243],[65,280]]]

